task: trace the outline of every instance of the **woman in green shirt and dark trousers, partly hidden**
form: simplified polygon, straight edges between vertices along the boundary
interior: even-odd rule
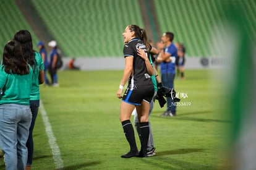
[[[24,59],[28,62],[28,64],[30,64],[33,69],[32,88],[30,91],[30,109],[32,111],[32,122],[30,125],[30,133],[27,141],[28,159],[26,170],[28,170],[32,166],[34,145],[33,129],[35,126],[40,103],[39,85],[45,81],[45,66],[43,64],[43,59],[40,53],[33,50],[32,36],[30,35],[30,32],[28,32],[28,30],[19,30],[19,32],[15,33],[14,40],[19,41],[22,45]]]

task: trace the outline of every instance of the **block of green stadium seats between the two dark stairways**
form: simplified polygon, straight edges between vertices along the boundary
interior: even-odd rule
[[[124,27],[143,27],[137,0],[32,2],[67,56],[122,56]]]

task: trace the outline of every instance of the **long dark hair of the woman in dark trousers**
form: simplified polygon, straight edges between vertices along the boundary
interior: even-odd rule
[[[14,40],[19,41],[22,45],[22,52],[25,61],[33,67],[35,62],[35,51],[33,50],[32,36],[28,30],[19,30],[14,35]]]

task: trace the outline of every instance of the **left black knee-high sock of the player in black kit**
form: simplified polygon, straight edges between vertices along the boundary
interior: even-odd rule
[[[134,128],[130,120],[122,121],[122,129],[124,129],[124,135],[126,135],[126,139],[129,142],[130,151],[137,153],[138,149],[134,137]]]

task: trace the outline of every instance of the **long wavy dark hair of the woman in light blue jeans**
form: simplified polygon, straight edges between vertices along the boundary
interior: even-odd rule
[[[22,46],[18,41],[11,40],[4,46],[2,65],[7,74],[24,75],[29,73],[29,67],[22,53]]]

